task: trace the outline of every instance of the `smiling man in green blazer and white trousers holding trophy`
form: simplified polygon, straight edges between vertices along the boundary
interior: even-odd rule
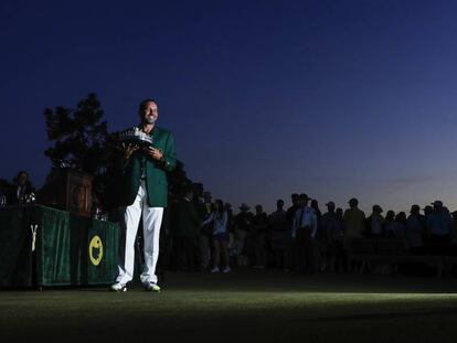
[[[121,221],[118,277],[114,291],[125,291],[134,277],[135,238],[142,216],[145,265],[140,279],[147,291],[159,292],[156,265],[159,257],[159,236],[163,207],[167,207],[167,172],[177,160],[174,138],[170,131],[156,127],[159,116],[157,101],[146,99],[139,106],[139,129],[152,138],[152,147],[124,146],[121,180]]]

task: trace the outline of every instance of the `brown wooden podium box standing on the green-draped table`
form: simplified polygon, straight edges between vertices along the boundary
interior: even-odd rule
[[[91,216],[93,176],[68,168],[53,169],[39,202],[83,217]]]

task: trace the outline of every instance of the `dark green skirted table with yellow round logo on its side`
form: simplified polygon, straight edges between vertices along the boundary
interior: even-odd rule
[[[0,287],[110,283],[118,237],[116,223],[44,206],[2,207]]]

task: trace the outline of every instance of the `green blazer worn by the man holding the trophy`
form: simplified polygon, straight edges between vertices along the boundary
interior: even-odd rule
[[[174,138],[170,131],[155,127],[151,131],[152,146],[163,153],[162,161],[156,161],[140,149],[125,161],[123,169],[123,184],[120,203],[129,206],[135,202],[141,184],[141,165],[145,165],[146,190],[150,207],[167,207],[168,183],[166,172],[171,172],[177,165]]]

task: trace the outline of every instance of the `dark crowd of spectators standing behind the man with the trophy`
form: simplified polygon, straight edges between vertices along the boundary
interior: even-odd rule
[[[293,194],[287,210],[278,200],[270,214],[262,205],[252,211],[245,203],[234,214],[230,204],[213,201],[210,192],[200,196],[190,187],[170,207],[170,267],[211,272],[240,266],[347,272],[351,243],[358,238],[398,239],[415,255],[454,254],[457,212],[449,213],[440,201],[424,208],[413,205],[408,215],[393,211],[384,215],[380,205],[373,205],[365,216],[357,199],[348,204],[343,211],[328,202],[322,214],[317,200]]]

